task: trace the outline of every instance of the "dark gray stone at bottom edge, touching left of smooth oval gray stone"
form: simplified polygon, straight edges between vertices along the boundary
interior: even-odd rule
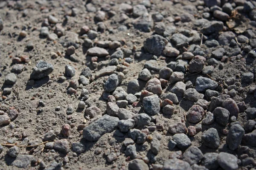
[[[201,163],[209,170],[217,170],[219,167],[217,158],[218,153],[205,153]]]

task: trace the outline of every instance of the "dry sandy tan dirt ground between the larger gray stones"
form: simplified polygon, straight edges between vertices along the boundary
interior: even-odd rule
[[[83,127],[87,127],[93,122],[96,122],[102,115],[108,114],[106,111],[108,100],[105,100],[102,94],[104,94],[105,82],[110,75],[106,74],[105,76],[97,77],[97,73],[109,65],[110,57],[98,57],[97,61],[94,61],[94,58],[92,57],[95,56],[89,56],[87,50],[93,46],[99,46],[97,45],[97,42],[100,41],[118,42],[116,48],[111,49],[108,47],[109,45],[107,45],[105,49],[110,56],[119,49],[124,51],[124,58],[117,60],[117,68],[112,73],[124,73],[122,74],[123,81],[119,82],[118,87],[122,87],[123,91],[128,94],[131,92],[128,88],[133,88],[129,87],[129,82],[138,79],[138,75],[143,68],[145,68],[144,65],[146,62],[149,60],[152,62],[152,60],[154,60],[153,68],[148,68],[148,70],[151,73],[151,78],[156,77],[159,79],[158,68],[164,68],[166,65],[168,66],[169,62],[182,59],[182,56],[154,56],[154,54],[150,54],[146,51],[144,42],[148,37],[156,34],[155,29],[150,28],[151,30],[149,32],[145,32],[136,28],[134,23],[138,17],[134,16],[132,10],[129,11],[128,9],[127,11],[123,11],[121,9],[122,3],[129,4],[132,7],[142,3],[147,6],[146,4],[149,3],[146,8],[149,15],[153,15],[156,12],[162,14],[163,18],[159,22],[154,22],[154,26],[158,23],[164,23],[166,30],[175,27],[174,31],[171,31],[171,33],[165,36],[165,38],[171,42],[173,47],[175,47],[175,44],[173,44],[172,41],[173,34],[189,34],[187,36],[192,37],[194,34],[193,31],[195,31],[196,35],[199,36],[199,38],[197,37],[197,40],[189,42],[189,45],[185,44],[184,48],[179,48],[177,46],[176,48],[181,55],[193,44],[199,45],[201,51],[204,52],[204,65],[212,65],[213,70],[209,73],[209,76],[202,74],[201,71],[190,73],[188,71],[188,63],[191,59],[188,59],[186,60],[188,62],[183,65],[185,72],[183,72],[184,79],[182,79],[181,82],[186,83],[191,81],[192,88],[195,88],[197,77],[214,79],[214,81],[218,82],[218,88],[215,89],[215,91],[218,91],[220,94],[218,98],[221,98],[222,95],[224,95],[223,99],[231,97],[235,101],[236,107],[238,105],[240,110],[236,120],[233,121],[229,119],[226,126],[221,126],[216,121],[210,125],[201,125],[201,122],[193,124],[187,121],[184,115],[186,115],[189,108],[194,105],[194,101],[189,101],[183,98],[183,96],[179,97],[179,103],[173,105],[174,113],[172,116],[168,117],[164,115],[162,110],[155,116],[150,115],[151,123],[148,126],[152,128],[155,127],[155,130],[148,131],[148,126],[138,128],[147,134],[147,139],[143,144],[137,144],[135,142],[137,159],[143,159],[147,164],[148,169],[158,170],[156,167],[162,169],[164,162],[169,158],[172,158],[175,151],[180,150],[178,147],[175,147],[174,149],[170,149],[169,147],[169,141],[173,139],[174,135],[168,131],[169,126],[175,125],[177,122],[183,122],[186,127],[195,126],[197,127],[197,130],[199,129],[195,136],[189,135],[189,133],[187,133],[187,136],[191,140],[192,146],[198,147],[203,154],[220,152],[231,153],[238,158],[238,168],[235,169],[246,170],[256,167],[255,140],[253,141],[253,144],[242,142],[236,150],[230,150],[226,144],[226,138],[231,127],[231,122],[238,121],[241,127],[245,128],[244,126],[249,119],[255,121],[256,118],[248,118],[247,113],[244,112],[247,108],[256,108],[256,100],[254,97],[255,78],[253,78],[253,81],[249,81],[249,84],[244,84],[241,81],[242,74],[244,73],[250,72],[255,75],[255,58],[253,58],[253,54],[252,56],[249,56],[247,53],[250,50],[246,51],[244,48],[249,48],[248,46],[250,46],[249,49],[256,48],[254,42],[250,42],[249,44],[249,41],[256,40],[254,39],[256,34],[256,23],[253,21],[254,16],[251,14],[253,12],[249,13],[249,11],[243,11],[242,7],[244,7],[245,0],[221,0],[222,4],[227,2],[230,2],[233,5],[233,13],[229,14],[230,19],[221,21],[224,24],[223,29],[201,37],[201,28],[204,24],[198,26],[195,23],[203,18],[203,13],[207,12],[211,15],[207,18],[209,21],[220,20],[213,16],[210,7],[209,11],[207,10],[208,7],[204,4],[204,1],[199,0],[1,1],[0,18],[3,23],[3,29],[0,31],[0,116],[10,116],[12,112],[17,112],[17,118],[15,117],[11,121],[7,121],[8,123],[1,124],[0,143],[18,145],[40,144],[41,142],[44,142],[44,135],[50,130],[53,130],[56,134],[56,138],[52,142],[60,139],[67,139],[69,151],[65,153],[58,149],[47,149],[45,147],[46,144],[40,144],[37,147],[19,147],[20,150],[19,153],[16,154],[16,157],[10,156],[11,154],[9,154],[8,151],[9,148],[11,148],[10,146],[3,146],[1,147],[0,153],[0,169],[128,169],[128,164],[132,159],[125,155],[126,147],[123,144],[124,140],[129,138],[128,133],[115,135],[115,130],[119,129],[118,127],[115,127],[110,133],[103,134],[99,140],[94,142],[83,139]],[[251,4],[256,5],[255,1],[251,2]],[[222,7],[222,4],[219,5],[220,8]],[[105,13],[102,21],[96,17],[97,11],[99,10],[104,11]],[[125,14],[128,18],[125,18],[122,14]],[[184,20],[186,17],[183,20],[183,14],[190,14],[193,18],[188,22],[185,22]],[[54,16],[58,21],[56,23],[51,23],[49,20],[47,21],[50,15]],[[123,18],[125,18],[125,20]],[[237,20],[239,20],[239,22],[237,22]],[[100,24],[102,24],[99,24],[99,22],[103,22],[105,25],[103,31],[99,28]],[[232,27],[230,24],[236,25]],[[49,34],[56,33],[55,30],[59,29],[58,31],[61,32],[60,36],[55,40],[49,40],[49,37],[42,36],[41,28],[43,26],[49,28]],[[97,33],[94,39],[91,38],[93,42],[92,46],[88,47],[84,45],[84,40],[87,39],[87,35],[86,33],[83,35],[80,32],[83,26],[87,26],[90,30],[94,30]],[[120,26],[125,27],[125,29],[121,29]],[[205,44],[206,40],[215,39],[219,41],[218,36],[227,31],[233,32],[236,39],[231,36],[227,44],[218,44],[214,47]],[[26,36],[23,36],[23,34],[26,34]],[[244,37],[247,37],[246,42],[237,42],[237,37],[239,35],[245,35]],[[231,44],[234,43],[233,41],[231,42],[231,40],[236,44]],[[107,44],[110,42],[107,42]],[[67,48],[70,45],[77,45],[75,53],[73,54],[76,61],[70,59],[70,56],[66,53]],[[214,61],[210,60],[213,58],[212,51],[215,51],[218,48],[224,48],[224,56],[227,57],[221,57]],[[239,48],[240,51],[235,53],[233,51],[234,48]],[[235,55],[232,55],[233,53]],[[21,61],[20,58],[23,59],[24,56],[29,59],[27,58],[26,61]],[[131,63],[125,62],[128,61],[125,60],[125,58],[128,57],[131,58]],[[54,70],[49,76],[39,80],[32,80],[30,79],[30,74],[40,60],[52,64]],[[23,65],[23,68],[21,68],[22,72],[19,74],[15,73],[17,77],[15,84],[6,83],[6,75],[13,72],[13,67],[15,67],[15,65]],[[70,65],[75,68],[76,72],[73,77],[66,76],[65,65]],[[90,83],[87,85],[80,84],[76,89],[77,94],[68,93],[70,81],[73,79],[79,80],[81,71],[86,67],[90,68],[92,71],[92,76],[88,78]],[[230,78],[233,78],[234,82],[227,85],[227,80]],[[169,79],[167,80],[169,81]],[[137,92],[145,90],[146,81],[138,79],[138,82],[140,84],[140,89],[137,90]],[[163,86],[162,93],[164,94],[170,91],[173,85],[174,84],[168,82],[165,87]],[[189,85],[186,85],[188,88]],[[230,85],[233,86],[230,87]],[[5,88],[12,88],[10,90],[11,93],[5,94]],[[81,109],[78,108],[78,104],[81,100],[81,92],[83,88],[89,91],[89,95],[88,99],[84,101],[85,108]],[[234,89],[235,92],[231,91],[232,89]],[[6,89],[6,91],[8,91],[8,89]],[[131,93],[135,94],[134,91]],[[204,94],[205,92],[200,93]],[[139,99],[140,96],[137,99],[138,103],[128,104],[125,109],[135,114],[145,113],[145,111],[143,111],[142,102],[140,102]],[[206,97],[203,99],[207,102],[207,106],[204,108],[206,113],[209,111],[211,99],[206,99]],[[41,104],[42,102],[43,105]],[[72,114],[68,115],[66,111],[70,106],[73,107],[74,111]],[[91,106],[99,108],[99,117],[90,118],[85,114],[86,108]],[[255,115],[255,113],[252,114]],[[251,123],[253,124],[253,122]],[[64,124],[70,125],[69,135],[66,136],[61,132],[61,128]],[[217,149],[205,146],[201,139],[204,131],[210,127],[214,127],[218,130],[220,143]],[[252,127],[251,131],[245,131],[245,134],[252,133],[252,130],[254,129],[255,127]],[[252,134],[252,138],[254,137],[254,139],[256,139],[255,133],[256,132]],[[157,155],[151,153],[152,138],[156,138],[160,141],[159,153]],[[72,149],[72,144],[75,142],[81,142],[81,144],[83,144],[85,149],[82,153],[76,153]],[[182,150],[182,153],[184,153],[184,151],[185,150]],[[116,159],[114,161],[108,160],[110,153],[115,154]],[[30,155],[31,157],[26,158],[23,157],[23,155]],[[173,157],[182,159],[181,156]],[[244,163],[244,158],[252,159],[250,159],[251,162]],[[16,159],[20,159],[21,162],[17,163],[19,160]],[[25,160],[28,161],[28,163],[22,163],[22,161]],[[15,161],[16,163],[14,163]],[[196,164],[202,165],[201,160],[196,162]],[[192,164],[190,165],[192,166]],[[143,168],[145,170],[147,169],[146,167],[141,167],[141,170],[144,170]],[[192,168],[193,170],[196,169],[196,167]],[[232,170],[231,167],[227,167],[227,169],[228,168]],[[130,167],[130,169],[132,169],[132,167]],[[225,168],[217,166],[217,169]]]

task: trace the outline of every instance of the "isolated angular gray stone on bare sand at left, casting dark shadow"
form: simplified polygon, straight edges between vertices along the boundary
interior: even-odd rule
[[[30,74],[30,79],[41,79],[48,76],[53,71],[53,66],[47,62],[40,60],[36,66],[33,68]]]

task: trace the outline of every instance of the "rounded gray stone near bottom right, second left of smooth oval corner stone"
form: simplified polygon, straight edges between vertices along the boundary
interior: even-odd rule
[[[189,162],[190,165],[198,164],[204,155],[196,146],[190,146],[182,155],[182,160]]]

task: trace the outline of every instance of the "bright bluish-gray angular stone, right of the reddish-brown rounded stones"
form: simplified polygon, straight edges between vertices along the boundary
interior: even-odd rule
[[[204,92],[207,89],[215,90],[217,87],[218,87],[217,82],[206,77],[198,77],[195,82],[195,89],[198,92]]]

